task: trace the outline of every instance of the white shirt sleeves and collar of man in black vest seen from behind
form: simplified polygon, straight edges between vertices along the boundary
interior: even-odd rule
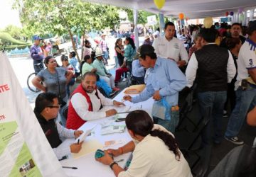
[[[208,43],[208,45],[213,43]],[[186,79],[187,79],[187,86],[191,88],[193,86],[193,81],[196,79],[196,71],[198,69],[198,60],[196,59],[195,53],[191,55],[191,59],[189,59],[188,67],[186,68]],[[227,64],[227,73],[228,73],[228,83],[232,81],[235,76],[236,69],[234,64],[234,59],[228,50],[228,64]]]

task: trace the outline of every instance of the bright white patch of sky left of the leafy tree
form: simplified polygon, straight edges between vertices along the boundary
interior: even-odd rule
[[[11,9],[14,0],[0,0],[0,29],[6,25],[16,25],[21,27],[21,22],[16,9]]]

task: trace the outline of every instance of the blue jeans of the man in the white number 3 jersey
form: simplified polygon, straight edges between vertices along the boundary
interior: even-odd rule
[[[242,89],[239,87],[238,90],[235,91],[235,96],[235,108],[230,115],[228,127],[225,132],[225,137],[228,138],[238,136],[250,105],[256,105],[256,89],[253,89],[250,86],[246,91],[242,91]]]

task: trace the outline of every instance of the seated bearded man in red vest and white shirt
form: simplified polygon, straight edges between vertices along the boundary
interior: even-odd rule
[[[72,93],[68,105],[67,128],[77,130],[88,120],[96,120],[117,114],[117,110],[99,111],[103,105],[124,105],[106,98],[96,88],[96,74],[87,72],[82,84]]]

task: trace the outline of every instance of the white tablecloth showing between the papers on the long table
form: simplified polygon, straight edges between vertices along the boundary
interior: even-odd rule
[[[115,101],[122,101],[122,98],[124,96],[124,91],[119,93],[113,100]],[[135,96],[135,95],[132,95]],[[129,101],[125,101],[124,104],[127,106],[131,106],[130,110],[137,110],[137,109],[142,109],[146,110],[146,112],[151,114],[151,108],[153,105],[153,99],[150,98],[147,101],[141,102],[141,103],[130,103]],[[102,110],[107,110],[110,107],[105,107],[102,108]],[[86,122],[82,127],[80,127],[79,130],[88,130],[92,125],[95,125],[97,123],[97,126],[92,130],[94,132],[92,136],[87,137],[87,138],[95,138],[97,139],[100,143],[105,144],[106,141],[109,140],[123,140],[123,144],[117,144],[115,147],[111,147],[112,149],[117,149],[118,147],[122,147],[124,144],[127,142],[131,141],[131,137],[129,136],[129,133],[127,132],[127,129],[123,133],[115,133],[115,134],[110,134],[110,135],[101,135],[100,130],[101,130],[101,122],[104,122],[107,119],[112,119],[110,118],[102,118],[99,120],[93,120]],[[118,125],[125,125],[125,122],[114,122],[115,124]],[[70,144],[70,142],[73,142],[74,139],[66,139],[63,144],[61,145],[67,145]],[[120,159],[124,159],[124,161],[119,162],[119,166],[124,167],[127,160],[129,159],[131,153],[127,154],[122,154],[121,156],[114,157],[114,161],[119,161]],[[68,176],[86,176],[86,177],[114,177],[113,171],[110,169],[110,166],[106,166],[104,164],[101,164],[98,161],[95,161],[95,152],[92,152],[90,154],[87,154],[85,156],[80,157],[79,159],[73,159],[72,156],[69,156],[68,159],[60,161],[60,164],[62,166],[75,166],[78,167],[78,169],[64,169],[65,173],[67,173]]]

